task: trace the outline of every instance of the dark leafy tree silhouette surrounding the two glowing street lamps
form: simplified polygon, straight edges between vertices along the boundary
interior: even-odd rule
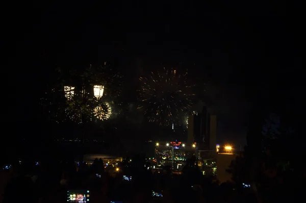
[[[103,112],[97,112],[97,107],[105,107],[106,102],[115,105],[115,109],[120,106],[118,98],[122,90],[122,76],[109,64],[100,67],[90,65],[85,70],[73,69],[65,73],[59,70],[56,69],[53,80],[49,81],[40,99],[43,116],[47,120],[79,124],[102,121],[109,116],[100,115]],[[94,85],[104,87],[103,96],[99,99],[93,96]],[[64,86],[74,89],[65,92]],[[65,97],[67,93],[70,93],[69,98]]]

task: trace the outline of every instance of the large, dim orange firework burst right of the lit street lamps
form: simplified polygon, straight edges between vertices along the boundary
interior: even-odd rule
[[[192,105],[192,88],[186,83],[186,75],[176,70],[151,72],[150,77],[139,80],[142,82],[139,91],[141,105],[149,122],[170,125],[181,122],[188,114]]]

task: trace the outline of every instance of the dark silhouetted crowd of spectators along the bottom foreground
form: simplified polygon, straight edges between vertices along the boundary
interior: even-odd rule
[[[7,177],[2,183],[2,202],[67,202],[67,191],[72,189],[89,190],[90,202],[261,202],[250,189],[231,183],[219,185],[214,176],[202,175],[195,157],[187,160],[182,174],[171,173],[170,167],[153,172],[140,156],[133,157],[132,162],[126,160],[130,159],[117,165],[120,170],[113,167],[107,172],[101,159],[92,164],[73,160],[13,163],[2,171]],[[123,175],[133,178],[124,181]],[[272,194],[277,191],[274,189],[265,191],[277,196]],[[163,196],[152,197],[152,191]]]

